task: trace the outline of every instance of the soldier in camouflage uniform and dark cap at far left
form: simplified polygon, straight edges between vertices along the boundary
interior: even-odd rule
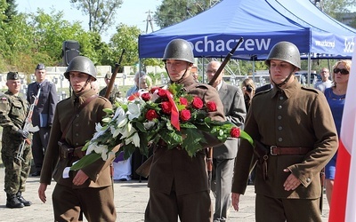
[[[28,102],[19,96],[21,89],[20,76],[9,72],[6,77],[8,91],[0,95],[0,126],[3,127],[1,157],[5,167],[4,191],[6,192],[7,208],[23,208],[31,202],[22,197],[25,191],[31,161],[29,133],[22,127],[28,115]],[[23,155],[16,158],[22,142]]]

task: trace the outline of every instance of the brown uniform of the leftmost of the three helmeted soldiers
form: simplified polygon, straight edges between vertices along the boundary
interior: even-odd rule
[[[77,171],[70,171],[69,178],[62,177],[63,170],[78,160],[77,157],[61,158],[58,141],[68,124],[70,127],[65,141],[70,147],[83,147],[87,140],[93,138],[95,123],[101,123],[105,115],[102,110],[111,107],[108,99],[98,97],[77,114],[78,106],[94,94],[93,90],[84,91],[78,96],[73,94],[71,98],[61,100],[55,110],[40,182],[49,185],[52,177],[57,182],[53,190],[53,209],[56,220],[77,218],[80,210],[84,211],[85,218],[89,221],[116,220],[109,164],[105,164],[100,159],[83,168],[82,170],[89,178],[81,186],[75,186],[72,183]],[[73,115],[77,117],[69,123]]]

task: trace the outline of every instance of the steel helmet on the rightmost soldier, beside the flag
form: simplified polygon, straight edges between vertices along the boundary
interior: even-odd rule
[[[268,67],[271,66],[271,59],[287,61],[293,66],[301,68],[299,50],[295,44],[289,42],[279,42],[272,47],[268,58],[264,61]]]

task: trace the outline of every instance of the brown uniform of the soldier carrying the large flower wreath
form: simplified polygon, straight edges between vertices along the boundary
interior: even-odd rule
[[[213,120],[224,121],[223,104],[213,87],[196,83],[191,75],[179,83],[190,95],[198,96],[204,103],[214,101],[217,110],[208,115]],[[221,144],[216,138],[206,139],[210,146]],[[145,221],[175,221],[177,215],[182,221],[209,221],[212,205],[207,180],[205,153],[190,157],[183,150],[157,147],[150,167],[150,201]],[[178,202],[175,208],[172,206],[174,199]],[[174,209],[177,211],[174,212]]]

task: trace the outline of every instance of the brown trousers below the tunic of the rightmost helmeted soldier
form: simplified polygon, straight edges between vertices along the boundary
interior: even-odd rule
[[[321,222],[318,199],[278,199],[256,194],[256,222]]]

